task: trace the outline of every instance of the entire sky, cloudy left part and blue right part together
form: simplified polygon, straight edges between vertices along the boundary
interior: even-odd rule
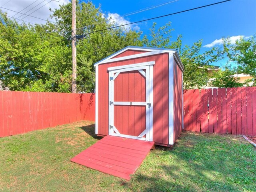
[[[87,0],[83,1],[87,2]],[[136,22],[220,1],[222,0],[92,0],[96,7],[101,6],[101,11],[106,17],[112,16],[112,18],[165,4],[147,11],[115,19],[117,24]],[[66,4],[70,0],[54,0],[51,2],[46,0],[38,0],[36,2],[35,0],[0,0],[0,6],[2,11],[8,13],[8,16],[22,19],[20,22],[45,23],[44,20],[16,14],[16,12],[20,12],[33,2],[33,5],[21,13],[25,13],[37,4],[36,8],[45,4],[36,12],[32,13],[36,9],[34,8],[27,14],[32,13],[31,16],[48,19],[50,16],[49,8],[58,8],[59,4]],[[208,47],[202,48],[202,52],[204,52],[209,50],[210,46],[221,46],[218,44],[221,44],[222,37],[230,36],[233,42],[235,42],[239,36],[246,38],[254,35],[256,33],[256,0],[232,0],[190,12],[134,24],[131,28],[141,30],[143,34],[149,34],[149,28],[153,22],[156,22],[157,27],[160,27],[169,21],[172,22],[172,28],[174,28],[171,41],[176,40],[179,34],[183,36],[183,44],[192,45],[194,42],[202,39],[203,46],[208,45]],[[224,65],[226,62],[227,59],[224,59],[215,63],[215,65]]]

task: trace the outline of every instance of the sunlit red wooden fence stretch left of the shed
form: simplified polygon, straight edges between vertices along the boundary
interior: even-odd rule
[[[0,91],[0,137],[95,120],[94,94]]]

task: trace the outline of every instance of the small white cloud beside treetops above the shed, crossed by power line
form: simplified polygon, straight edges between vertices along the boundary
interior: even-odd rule
[[[125,24],[131,23],[130,21],[121,17],[118,13],[108,13],[107,18],[108,18],[108,20],[110,20],[110,22],[117,24],[117,25],[125,25]],[[140,27],[137,24],[126,25],[126,26],[124,26],[124,28],[126,30],[129,30],[129,28],[131,28],[132,30],[140,30]]]

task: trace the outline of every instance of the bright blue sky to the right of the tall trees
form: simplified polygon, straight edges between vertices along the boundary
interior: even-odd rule
[[[135,22],[147,18],[170,14],[206,4],[220,2],[221,0],[92,0],[96,7],[101,6],[101,10],[106,16],[119,14],[120,16],[141,10],[152,8],[159,4],[163,6],[126,16],[128,22]],[[227,36],[252,36],[256,33],[256,0],[232,0],[222,4],[192,10],[190,12],[180,13],[173,16],[142,22],[132,28],[138,28],[144,34],[149,34],[149,28],[153,22],[157,26],[163,26],[167,22],[172,22],[172,37],[175,40],[179,34],[183,36],[183,43],[191,45],[199,39],[203,40],[203,46],[211,44],[214,40],[219,40]],[[120,22],[120,21],[118,21]],[[125,22],[123,20],[123,22]],[[236,39],[236,37],[233,37]],[[219,41],[215,41],[219,42]],[[212,44],[214,45],[214,44]],[[208,45],[211,46],[211,45]],[[218,46],[216,44],[215,46]],[[209,50],[203,47],[202,51]],[[221,60],[216,65],[226,64],[227,59]]]

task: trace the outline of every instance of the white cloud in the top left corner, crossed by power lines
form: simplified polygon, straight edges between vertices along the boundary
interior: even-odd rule
[[[11,0],[11,1],[10,0],[1,0],[0,6],[4,7],[4,8],[8,8],[8,9],[16,11],[16,12],[20,12],[22,9],[24,9],[29,4],[32,4],[33,2],[34,2],[34,0]],[[34,6],[39,4],[38,6],[36,6],[35,8],[33,8],[32,10],[30,10],[29,12],[26,13],[27,15],[29,15],[30,13],[34,12],[36,9],[40,8],[41,6],[43,6],[44,4],[46,4],[48,2],[49,2],[49,0],[46,0],[46,1],[38,0],[35,3],[33,3],[32,5],[30,5],[28,8],[23,10],[21,13],[26,13],[28,10],[30,10],[31,8],[33,8]],[[56,8],[59,8],[59,4],[67,4],[68,2],[70,2],[70,1],[69,0],[53,0],[50,3],[46,4],[45,6],[43,6],[42,8],[40,8],[39,10],[37,10],[36,12],[32,13],[31,16],[35,16],[35,17],[47,20],[47,19],[49,19],[50,14],[52,14],[50,12],[49,8],[54,10]],[[2,12],[7,12],[8,16],[12,17],[16,14],[16,12],[6,10],[4,8],[0,8],[0,9],[2,10]],[[24,17],[25,17],[25,15],[22,15],[20,13],[16,14],[14,16],[14,18],[18,18],[18,19],[22,19]],[[38,23],[38,24],[45,24],[46,21],[44,21],[44,20],[40,20],[40,19],[33,18],[30,16],[27,16],[26,18],[24,18],[24,21],[28,21],[31,23]],[[52,21],[54,21],[54,20],[52,20]],[[22,21],[20,21],[19,23],[21,23],[21,22]]]

